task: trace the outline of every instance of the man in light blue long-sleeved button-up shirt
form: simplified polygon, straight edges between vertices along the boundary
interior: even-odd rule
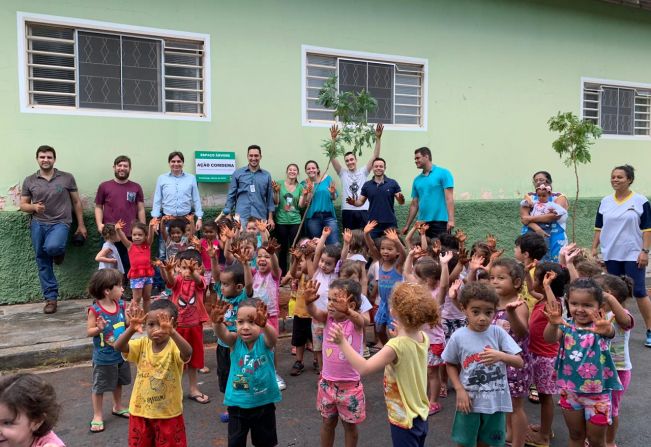
[[[167,161],[170,164],[170,172],[161,174],[156,180],[151,215],[185,217],[194,210],[197,217],[196,229],[199,231],[203,209],[197,179],[194,175],[183,172],[185,158],[181,152],[172,152]]]

